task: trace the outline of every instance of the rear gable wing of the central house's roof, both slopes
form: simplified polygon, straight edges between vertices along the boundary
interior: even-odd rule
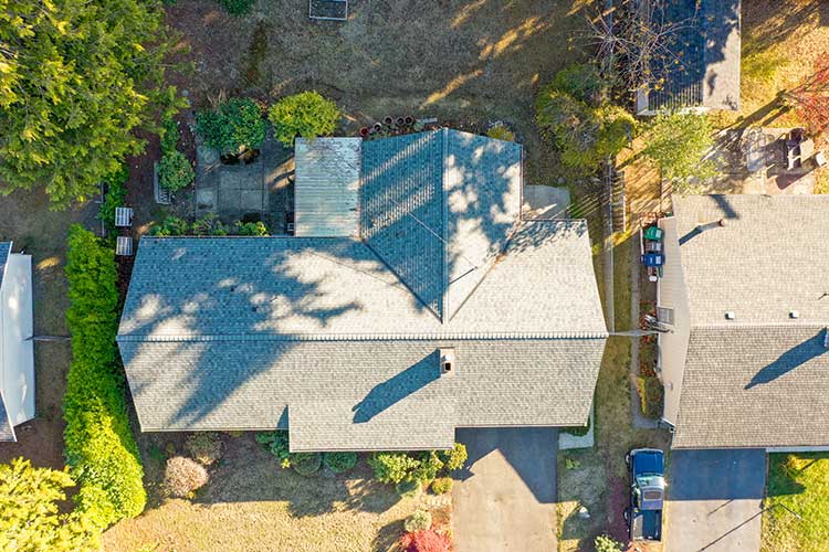
[[[441,129],[363,147],[360,234],[447,322],[515,229],[521,146]]]

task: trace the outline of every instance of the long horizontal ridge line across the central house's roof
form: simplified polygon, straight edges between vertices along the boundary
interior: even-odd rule
[[[167,341],[535,341],[556,339],[606,339],[607,331],[497,332],[497,333],[221,333],[207,336],[117,336],[118,342]]]

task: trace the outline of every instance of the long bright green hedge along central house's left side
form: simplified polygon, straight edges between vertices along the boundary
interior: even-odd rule
[[[63,400],[66,464],[80,485],[78,508],[105,528],[139,514],[147,493],[115,343],[118,291],[113,252],[76,224],[69,232],[66,279],[72,336]]]

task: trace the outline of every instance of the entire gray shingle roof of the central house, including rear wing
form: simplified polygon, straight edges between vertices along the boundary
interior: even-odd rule
[[[607,337],[587,225],[521,222],[521,148],[479,138],[364,142],[363,240],[144,237],[118,331],[141,428],[364,450],[584,424]]]

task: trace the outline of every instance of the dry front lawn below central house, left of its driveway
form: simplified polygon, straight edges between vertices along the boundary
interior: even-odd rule
[[[155,437],[154,437],[155,438]],[[166,437],[158,440],[164,446]],[[146,434],[143,445],[147,445]],[[282,469],[253,434],[224,438],[225,453],[192,501],[162,500],[164,455],[145,454],[150,503],[104,533],[112,552],[386,551],[418,500],[370,480],[364,460],[350,473],[303,477]]]

